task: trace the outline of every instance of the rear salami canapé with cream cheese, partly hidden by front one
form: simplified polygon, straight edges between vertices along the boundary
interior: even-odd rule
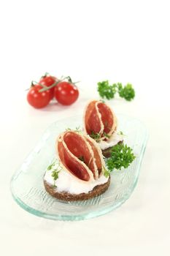
[[[117,132],[117,118],[109,106],[93,100],[85,108],[84,131],[96,140],[104,157],[110,157],[112,146],[123,142],[123,134]]]

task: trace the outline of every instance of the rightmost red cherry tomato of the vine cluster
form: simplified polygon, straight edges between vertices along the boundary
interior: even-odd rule
[[[74,84],[63,81],[55,86],[54,96],[62,105],[71,105],[79,97],[79,91]]]

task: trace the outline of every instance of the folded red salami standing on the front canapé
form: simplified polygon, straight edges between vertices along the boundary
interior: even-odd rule
[[[87,135],[64,132],[58,138],[57,150],[63,167],[77,178],[90,181],[102,173],[104,160],[101,149]]]

